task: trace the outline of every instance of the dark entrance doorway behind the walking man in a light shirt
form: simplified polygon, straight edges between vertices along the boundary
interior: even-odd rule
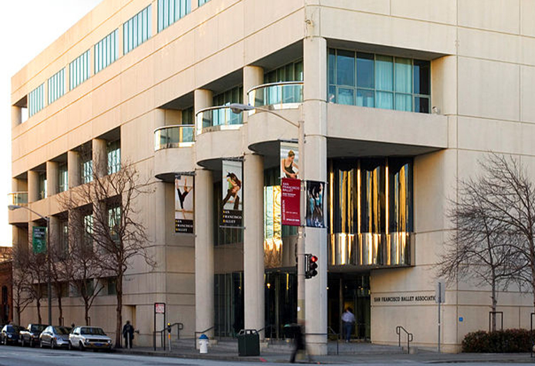
[[[369,273],[329,272],[327,287],[327,325],[341,334],[341,315],[350,307],[355,314],[352,339],[369,341],[371,338],[371,300]]]

